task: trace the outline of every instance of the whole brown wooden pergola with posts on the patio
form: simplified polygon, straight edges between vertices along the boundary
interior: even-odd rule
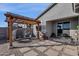
[[[18,14],[7,12],[4,14],[6,16],[6,21],[8,23],[8,40],[10,43],[10,48],[13,47],[12,44],[12,31],[13,31],[13,23],[21,23],[21,24],[29,24],[29,25],[37,25],[37,38],[39,39],[39,24],[41,23],[39,20],[34,20],[32,18],[28,18],[25,16],[21,16]]]

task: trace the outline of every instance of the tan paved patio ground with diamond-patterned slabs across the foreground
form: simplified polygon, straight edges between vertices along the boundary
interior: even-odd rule
[[[78,56],[78,45],[67,45],[51,40],[33,40],[29,43],[13,42],[14,48],[9,49],[8,43],[0,44],[0,56]]]

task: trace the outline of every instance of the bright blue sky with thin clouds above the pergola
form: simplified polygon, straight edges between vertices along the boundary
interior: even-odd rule
[[[48,3],[0,3],[0,27],[6,27],[4,13],[12,12],[26,17],[36,18],[47,7]]]

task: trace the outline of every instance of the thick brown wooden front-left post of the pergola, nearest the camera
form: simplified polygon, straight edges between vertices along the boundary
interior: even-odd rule
[[[13,18],[8,17],[8,40],[9,40],[9,43],[10,43],[9,48],[13,48],[13,44],[12,44],[12,25],[13,25]]]

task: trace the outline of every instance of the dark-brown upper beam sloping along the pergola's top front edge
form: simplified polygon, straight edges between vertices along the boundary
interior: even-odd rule
[[[18,14],[14,14],[14,13],[10,13],[10,12],[7,12],[4,14],[6,17],[13,17],[13,18],[16,18],[16,20],[23,20],[23,21],[29,21],[29,22],[36,22],[36,23],[41,23],[39,20],[34,20],[32,18],[29,18],[29,17],[25,17],[25,16],[21,16],[21,15],[18,15]]]

